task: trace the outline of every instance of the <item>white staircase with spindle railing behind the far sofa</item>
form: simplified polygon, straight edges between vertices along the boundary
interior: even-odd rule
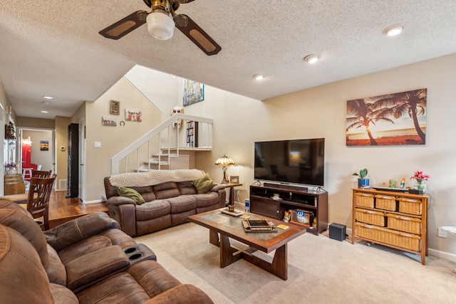
[[[212,150],[213,120],[176,114],[111,157],[111,174],[189,169],[188,153]]]

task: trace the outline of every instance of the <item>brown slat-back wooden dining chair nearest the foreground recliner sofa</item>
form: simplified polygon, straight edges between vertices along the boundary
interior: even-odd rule
[[[32,177],[27,204],[21,204],[31,213],[33,219],[43,218],[43,221],[36,221],[43,230],[49,229],[49,198],[56,177],[57,174],[53,174],[52,177]]]

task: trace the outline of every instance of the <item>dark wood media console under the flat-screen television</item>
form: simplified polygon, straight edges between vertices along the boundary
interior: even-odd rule
[[[279,198],[273,199],[274,194],[279,194]],[[311,219],[307,232],[318,235],[328,229],[328,192],[280,184],[250,186],[250,212],[283,220],[285,211],[296,209],[309,212],[316,219],[316,228]]]

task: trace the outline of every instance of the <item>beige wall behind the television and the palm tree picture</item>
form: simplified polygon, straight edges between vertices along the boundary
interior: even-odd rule
[[[456,241],[437,237],[438,226],[456,225],[454,194],[456,140],[451,122],[456,112],[454,80],[456,54],[422,63],[405,65],[358,78],[339,81],[260,102],[239,95],[205,88],[204,101],[185,108],[187,114],[214,119],[212,157],[197,156],[197,167],[218,181],[222,169],[214,166],[226,153],[236,162],[228,173],[244,183],[242,201],[253,180],[254,142],[325,137],[325,189],[329,193],[329,222],[351,227],[351,189],[358,172],[369,169],[371,184],[388,184],[410,177],[417,169],[430,174],[427,193],[429,246],[447,253],[456,252]],[[270,85],[273,85],[274,80]],[[299,81],[299,80],[297,80]],[[346,147],[346,100],[427,88],[427,140],[423,146]],[[411,183],[410,183],[411,184]]]

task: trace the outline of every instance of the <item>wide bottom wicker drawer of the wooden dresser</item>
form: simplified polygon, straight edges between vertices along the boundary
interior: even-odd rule
[[[421,248],[420,236],[368,224],[356,223],[356,236],[414,251]]]

